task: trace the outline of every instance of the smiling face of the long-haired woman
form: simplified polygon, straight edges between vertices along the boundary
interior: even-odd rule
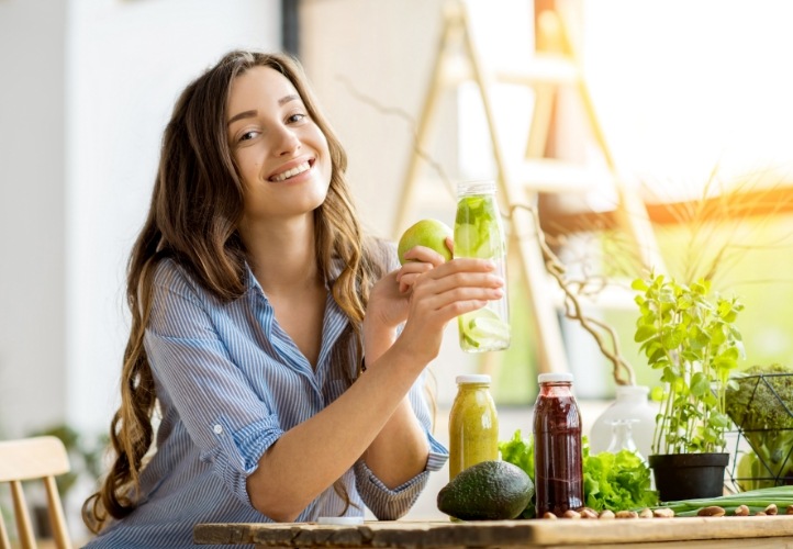
[[[331,182],[327,139],[287,77],[254,67],[232,82],[228,145],[245,188],[244,223],[304,215]]]

